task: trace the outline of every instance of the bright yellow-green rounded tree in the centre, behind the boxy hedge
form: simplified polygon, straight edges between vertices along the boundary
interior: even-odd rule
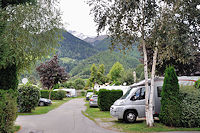
[[[121,78],[123,72],[124,72],[123,65],[120,64],[119,62],[116,62],[110,69],[108,77],[110,77],[111,81],[113,81],[116,85],[119,85],[121,84],[119,82],[119,79]]]

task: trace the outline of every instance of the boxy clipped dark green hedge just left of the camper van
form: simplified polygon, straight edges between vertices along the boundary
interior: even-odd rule
[[[113,103],[123,95],[122,90],[100,89],[98,95],[98,106],[101,111],[109,111]]]

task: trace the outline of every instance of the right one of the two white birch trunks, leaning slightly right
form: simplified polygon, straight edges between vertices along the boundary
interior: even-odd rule
[[[153,119],[153,112],[155,109],[155,101],[154,101],[154,77],[155,77],[155,70],[156,70],[156,60],[157,60],[158,48],[155,47],[154,54],[153,54],[153,64],[151,70],[151,92],[150,92],[150,99],[149,99],[149,125],[152,127],[154,125]]]

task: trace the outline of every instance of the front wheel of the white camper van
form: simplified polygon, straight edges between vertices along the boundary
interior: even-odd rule
[[[137,118],[137,113],[135,111],[128,110],[124,114],[124,120],[127,123],[134,123],[136,121],[136,118]]]

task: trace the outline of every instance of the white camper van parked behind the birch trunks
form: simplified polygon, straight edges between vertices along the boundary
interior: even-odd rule
[[[200,77],[179,77],[180,85],[193,85],[194,81],[198,80]],[[160,113],[161,107],[161,89],[163,85],[163,77],[155,78],[154,85],[154,115]],[[150,87],[150,80],[148,81]],[[119,120],[124,120],[128,123],[134,123],[136,118],[145,117],[145,81],[135,83],[130,86],[130,89],[124,94],[120,99],[115,101],[115,103],[110,108],[110,114]]]

